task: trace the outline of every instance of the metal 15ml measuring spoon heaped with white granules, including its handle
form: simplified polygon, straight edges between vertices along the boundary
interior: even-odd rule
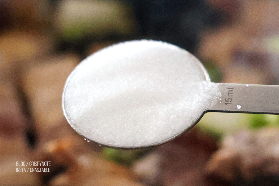
[[[83,60],[62,96],[69,124],[118,148],[165,143],[206,112],[279,113],[279,86],[212,83],[201,62],[172,44],[115,44]]]

